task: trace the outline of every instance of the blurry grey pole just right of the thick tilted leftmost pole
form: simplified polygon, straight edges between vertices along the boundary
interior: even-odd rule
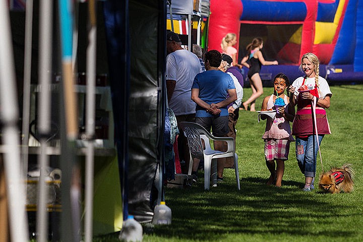
[[[24,166],[24,177],[27,177],[28,173],[32,27],[33,27],[33,0],[27,0],[25,8],[24,86],[23,86],[23,123],[22,123],[22,134],[23,134],[22,160]]]

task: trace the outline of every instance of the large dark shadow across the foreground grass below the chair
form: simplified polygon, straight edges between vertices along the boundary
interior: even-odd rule
[[[145,226],[144,233],[165,238],[223,240],[231,234],[285,234],[291,236],[331,236],[340,229],[314,229],[314,223],[336,218],[337,208],[324,202],[317,192],[306,193],[301,183],[284,181],[282,188],[266,186],[260,177],[241,178],[241,190],[235,180],[218,184],[210,191],[203,182],[187,190],[166,190],[166,203],[172,209],[172,224]],[[349,209],[340,206],[339,209]],[[345,232],[341,237],[353,236]],[[230,238],[230,237],[229,237]]]

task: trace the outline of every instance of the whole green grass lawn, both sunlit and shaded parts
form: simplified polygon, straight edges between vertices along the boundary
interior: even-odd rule
[[[264,91],[263,96],[267,96],[273,89]],[[256,112],[240,110],[236,152],[241,190],[237,190],[232,169],[225,169],[225,182],[210,191],[203,189],[202,172],[191,189],[166,189],[172,224],[144,224],[144,241],[363,241],[363,85],[332,86],[331,91],[327,115],[332,134],[321,144],[323,165],[329,170],[331,166],[353,164],[353,193],[302,192],[305,178],[297,166],[295,143],[291,143],[285,162],[282,188],[266,186],[269,171],[261,139],[266,123],[257,122]],[[251,89],[246,88],[244,99],[250,95]],[[257,110],[262,99],[257,100]],[[318,156],[317,175],[321,171]],[[117,236],[94,241],[118,241]]]

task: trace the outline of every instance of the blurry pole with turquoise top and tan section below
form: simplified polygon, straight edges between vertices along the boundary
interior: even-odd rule
[[[80,204],[81,199],[81,171],[79,164],[76,159],[76,139],[78,138],[78,122],[77,122],[77,101],[76,94],[74,92],[73,83],[73,66],[72,66],[72,41],[73,41],[73,1],[70,0],[59,0],[59,21],[61,23],[61,39],[62,39],[62,74],[63,74],[63,101],[64,101],[64,114],[65,114],[65,125],[66,125],[66,142],[64,145],[65,149],[62,149],[65,156],[69,157],[70,160],[67,162],[70,166],[65,167],[67,170],[63,172],[67,173],[68,181],[67,186],[63,186],[63,192],[67,192],[67,199],[65,201],[70,206],[69,215],[62,217],[62,232],[65,241],[80,241]],[[62,174],[63,175],[63,174]],[[63,182],[62,182],[63,183]],[[64,184],[64,183],[63,183]],[[67,191],[68,190],[68,191]],[[63,196],[62,196],[63,198]],[[65,200],[65,199],[64,199]],[[64,203],[65,204],[65,203]],[[66,208],[69,209],[69,208]],[[63,210],[63,208],[62,208]],[[66,220],[71,217],[72,221]],[[70,231],[64,231],[69,228]],[[66,234],[67,233],[67,234]],[[68,240],[65,238],[68,237]],[[72,240],[71,240],[72,239]]]

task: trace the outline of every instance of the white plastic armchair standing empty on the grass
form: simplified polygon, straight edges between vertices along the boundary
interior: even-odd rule
[[[233,157],[237,188],[238,190],[240,190],[238,156],[234,153],[234,139],[231,137],[214,137],[202,126],[192,122],[180,122],[180,127],[181,129],[183,129],[184,135],[188,139],[188,145],[190,150],[188,174],[192,174],[193,158],[204,159],[204,189],[209,190],[212,159]],[[202,145],[202,140],[205,144],[204,149]],[[227,142],[227,151],[222,152],[219,150],[213,150],[209,143],[210,140]],[[215,174],[217,172],[216,168],[217,166],[213,165],[213,173]]]

